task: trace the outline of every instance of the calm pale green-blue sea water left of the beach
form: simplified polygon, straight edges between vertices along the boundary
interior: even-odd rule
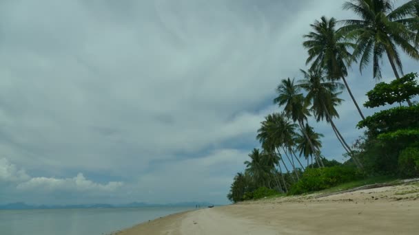
[[[194,208],[0,210],[1,235],[101,235]]]

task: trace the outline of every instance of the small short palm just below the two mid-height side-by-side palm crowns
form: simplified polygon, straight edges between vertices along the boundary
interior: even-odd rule
[[[313,145],[315,146],[317,153],[320,153],[320,148],[322,147],[322,142],[320,141],[320,137],[323,137],[323,134],[316,133],[314,129],[308,124],[305,124],[305,133],[307,133],[307,135],[309,136],[309,139],[311,139],[311,143],[313,143]],[[297,150],[300,151],[300,156],[303,155],[305,159],[307,159],[307,166],[309,166],[309,157],[311,157],[311,161],[312,161],[313,155],[316,155],[316,153],[314,153],[313,149],[310,148],[307,138],[305,138],[303,135],[298,135],[296,138],[296,142],[297,142]],[[318,166],[320,167],[318,161],[316,162]]]

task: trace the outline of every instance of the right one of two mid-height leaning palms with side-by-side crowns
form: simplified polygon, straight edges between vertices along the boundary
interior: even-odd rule
[[[343,100],[338,98],[341,92],[336,92],[343,89],[343,85],[339,82],[327,81],[325,71],[321,68],[309,69],[309,71],[301,70],[304,79],[300,80],[300,87],[307,91],[306,99],[312,102],[311,110],[314,112],[316,120],[326,120],[331,124],[331,127],[336,134],[340,144],[347,151],[348,155],[354,158],[354,161],[361,168],[360,163],[352,155],[350,146],[347,144],[340,131],[334,124],[333,118],[339,117],[338,111],[335,107]]]

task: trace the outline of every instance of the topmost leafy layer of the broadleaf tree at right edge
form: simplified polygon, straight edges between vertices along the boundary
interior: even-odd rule
[[[369,108],[380,107],[385,104],[401,103],[419,95],[419,85],[415,78],[418,74],[406,74],[400,79],[378,83],[374,89],[367,92],[368,101],[364,106]]]

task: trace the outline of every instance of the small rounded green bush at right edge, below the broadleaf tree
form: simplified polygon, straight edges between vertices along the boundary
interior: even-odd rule
[[[402,150],[398,158],[400,174],[404,177],[419,176],[419,148],[409,147]]]

